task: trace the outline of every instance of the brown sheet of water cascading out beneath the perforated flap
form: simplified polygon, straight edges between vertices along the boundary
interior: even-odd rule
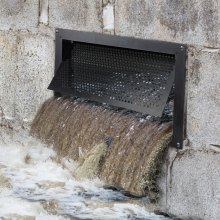
[[[171,123],[81,100],[53,98],[38,112],[32,134],[52,144],[59,155],[83,160],[81,174],[95,175],[136,196],[158,199],[156,178],[172,136]],[[109,147],[103,143],[106,139],[111,140]]]

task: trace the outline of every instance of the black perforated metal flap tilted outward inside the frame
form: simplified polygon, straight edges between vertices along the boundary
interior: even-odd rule
[[[175,56],[72,42],[49,89],[161,116]]]

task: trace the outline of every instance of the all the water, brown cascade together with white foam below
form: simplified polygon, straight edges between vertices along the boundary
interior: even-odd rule
[[[52,98],[31,133],[0,127],[1,220],[168,219],[150,202],[171,123]]]

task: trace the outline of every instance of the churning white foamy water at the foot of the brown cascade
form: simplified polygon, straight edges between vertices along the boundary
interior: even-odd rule
[[[0,138],[0,219],[168,219],[148,212],[146,198],[105,190],[99,180],[77,181],[74,161],[59,160],[27,135]]]

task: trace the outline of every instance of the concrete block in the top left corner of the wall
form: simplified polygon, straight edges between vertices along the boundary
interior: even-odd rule
[[[37,27],[39,0],[1,0],[0,30]]]

